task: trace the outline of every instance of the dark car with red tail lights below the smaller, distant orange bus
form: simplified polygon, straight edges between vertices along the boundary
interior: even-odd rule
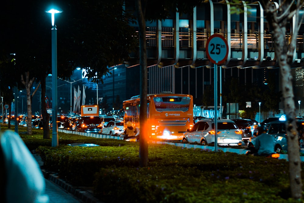
[[[78,119],[76,131],[99,133],[102,129],[99,116],[82,116]]]

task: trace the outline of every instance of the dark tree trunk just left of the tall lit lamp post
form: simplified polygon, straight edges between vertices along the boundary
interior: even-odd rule
[[[45,102],[46,95],[46,79],[45,76],[41,77],[41,114],[42,114],[42,123],[43,123],[43,139],[50,139],[50,115],[47,113],[47,103]]]

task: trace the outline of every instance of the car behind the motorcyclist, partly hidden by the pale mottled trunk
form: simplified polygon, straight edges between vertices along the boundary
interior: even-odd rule
[[[286,121],[272,121],[266,124],[267,126],[267,134],[271,135],[274,138],[275,143],[275,152],[285,150],[287,151],[287,135],[286,135]],[[304,120],[297,121],[298,130],[303,128]],[[250,139],[248,142],[248,147],[255,145],[256,137]]]

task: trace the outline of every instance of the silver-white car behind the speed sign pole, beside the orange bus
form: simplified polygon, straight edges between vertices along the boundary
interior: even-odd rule
[[[207,145],[215,142],[214,120],[203,119],[198,121],[184,133],[182,142],[197,142]],[[222,119],[217,121],[218,145],[242,145],[242,131],[234,121]]]

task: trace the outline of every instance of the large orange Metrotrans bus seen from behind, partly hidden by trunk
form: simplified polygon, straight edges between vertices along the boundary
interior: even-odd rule
[[[124,122],[139,129],[140,96],[123,101]],[[147,126],[150,139],[182,140],[193,126],[193,97],[188,94],[148,94]]]

